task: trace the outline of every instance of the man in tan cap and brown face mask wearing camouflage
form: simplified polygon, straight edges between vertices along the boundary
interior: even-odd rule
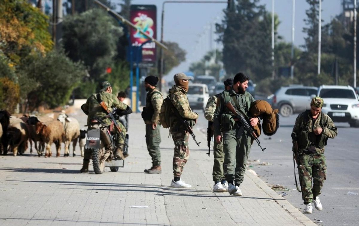
[[[188,83],[191,77],[187,77],[184,73],[174,75],[175,85],[168,90],[169,98],[180,116],[188,121],[191,126],[197,122],[198,114],[192,112],[190,104],[187,99]],[[186,184],[181,180],[183,167],[185,166],[188,158],[190,157],[190,149],[188,148],[188,139],[190,134],[185,130],[183,124],[175,116],[170,117],[170,131],[174,141],[174,155],[173,155],[173,180],[172,187],[190,188],[191,185]]]

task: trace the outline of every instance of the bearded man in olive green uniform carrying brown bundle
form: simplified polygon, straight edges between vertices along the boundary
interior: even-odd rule
[[[239,185],[243,182],[246,163],[251,148],[251,137],[243,130],[225,104],[231,102],[234,108],[241,110],[249,117],[249,108],[254,98],[246,89],[248,88],[248,76],[238,73],[233,79],[233,87],[223,91],[217,101],[214,113],[214,136],[216,142],[220,142],[223,133],[224,151],[224,176],[228,181],[230,195],[242,196]],[[251,126],[258,123],[258,118],[251,118]],[[222,130],[222,131],[221,131]]]

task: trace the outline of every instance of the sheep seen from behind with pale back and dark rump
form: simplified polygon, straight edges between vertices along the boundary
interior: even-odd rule
[[[11,116],[7,136],[14,156],[18,153],[22,155],[26,151],[28,134],[27,124],[22,119]]]

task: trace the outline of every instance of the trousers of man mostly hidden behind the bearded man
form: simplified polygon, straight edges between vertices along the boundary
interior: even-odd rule
[[[223,141],[221,140],[219,143],[216,142],[214,139],[214,146],[213,146],[213,181],[223,181],[225,180],[223,174],[223,163],[224,163],[224,152],[223,152]]]

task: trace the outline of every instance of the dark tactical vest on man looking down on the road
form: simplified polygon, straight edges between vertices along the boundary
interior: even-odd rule
[[[312,131],[313,128],[311,128],[311,122],[310,122],[311,119],[308,117],[309,113],[310,110],[306,110],[304,113],[302,113],[304,114],[304,117],[299,125],[300,127],[300,133],[298,134],[299,149],[307,149],[311,145],[323,149],[324,146],[327,145],[328,137],[323,133],[319,135],[314,134],[314,132]],[[326,118],[323,112],[321,112],[321,119],[319,125],[322,128],[326,126]]]

